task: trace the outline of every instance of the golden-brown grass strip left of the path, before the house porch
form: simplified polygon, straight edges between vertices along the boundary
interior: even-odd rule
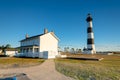
[[[0,58],[0,68],[18,68],[39,65],[44,62],[44,59],[33,58]]]

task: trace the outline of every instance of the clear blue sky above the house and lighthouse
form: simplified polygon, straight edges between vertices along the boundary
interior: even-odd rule
[[[26,33],[34,36],[48,28],[60,38],[61,48],[82,49],[88,13],[97,51],[120,51],[120,0],[0,0],[0,45],[18,47]]]

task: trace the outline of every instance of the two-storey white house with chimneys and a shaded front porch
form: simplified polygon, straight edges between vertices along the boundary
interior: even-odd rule
[[[44,30],[44,34],[29,37],[20,41],[21,53],[26,57],[55,58],[58,55],[58,38],[54,32]]]

